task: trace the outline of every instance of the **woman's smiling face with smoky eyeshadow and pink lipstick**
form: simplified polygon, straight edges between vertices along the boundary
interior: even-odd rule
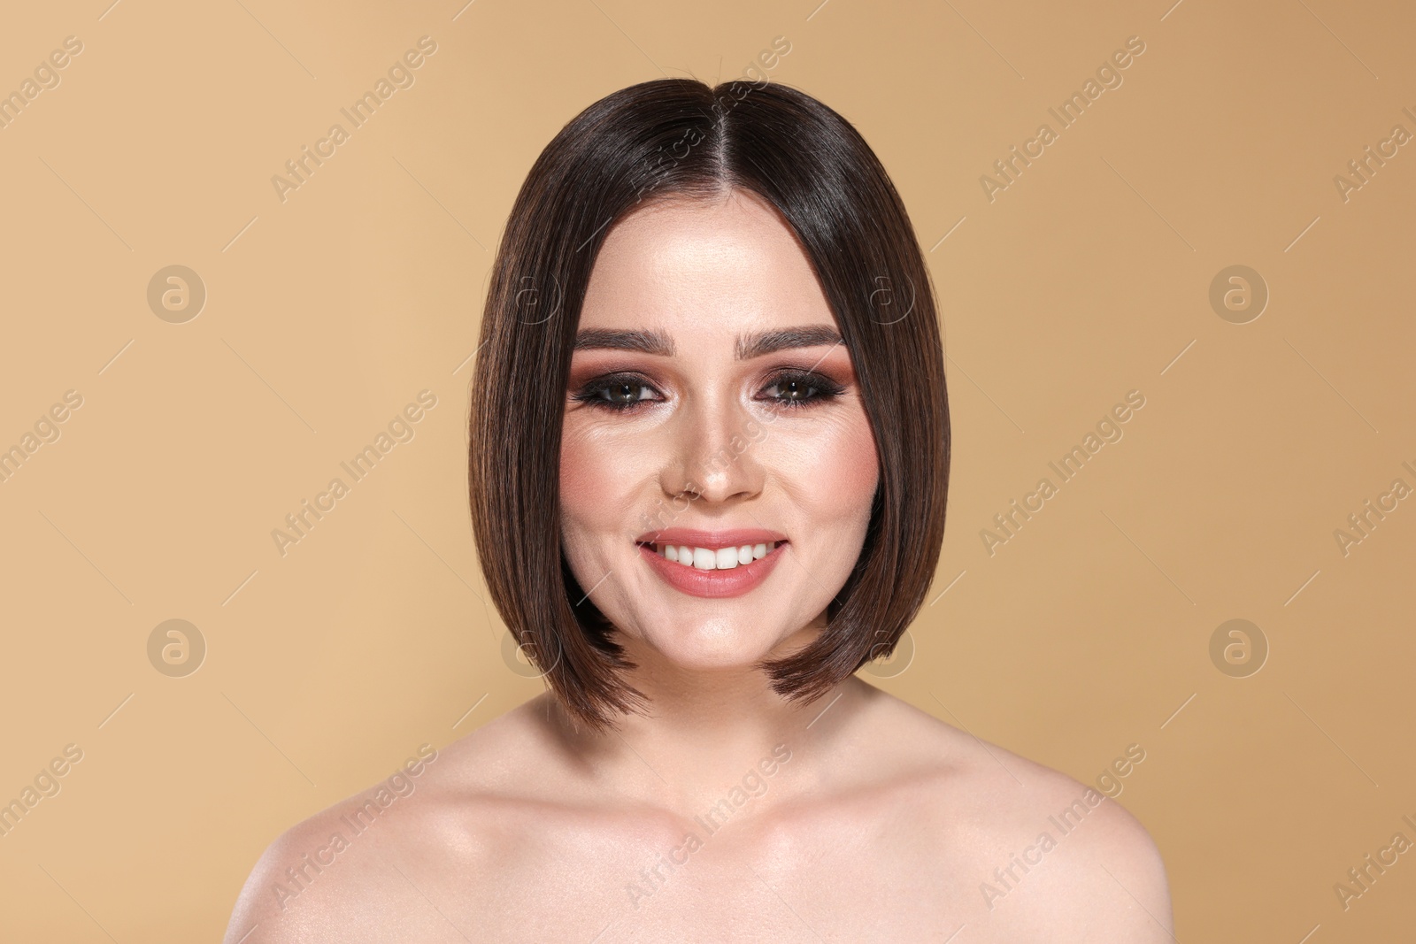
[[[850,352],[776,212],[735,191],[620,221],[581,311],[561,514],[630,648],[746,667],[823,627],[877,483]]]

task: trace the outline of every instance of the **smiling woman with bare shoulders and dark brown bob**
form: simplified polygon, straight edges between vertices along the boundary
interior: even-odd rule
[[[289,831],[228,941],[1171,940],[1114,801],[854,677],[933,577],[949,413],[843,117],[765,82],[596,102],[481,338],[477,548],[549,691]]]

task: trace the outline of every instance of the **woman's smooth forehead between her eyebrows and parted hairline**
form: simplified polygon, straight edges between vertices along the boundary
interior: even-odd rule
[[[796,236],[745,191],[650,204],[605,239],[581,328],[657,328],[675,337],[834,324]]]

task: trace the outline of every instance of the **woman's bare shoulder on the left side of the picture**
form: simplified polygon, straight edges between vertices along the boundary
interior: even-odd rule
[[[408,940],[449,934],[428,904],[447,893],[447,875],[490,875],[498,807],[515,802],[537,750],[528,710],[440,750],[422,744],[382,781],[285,831],[251,870],[225,944],[388,940],[395,917]]]

